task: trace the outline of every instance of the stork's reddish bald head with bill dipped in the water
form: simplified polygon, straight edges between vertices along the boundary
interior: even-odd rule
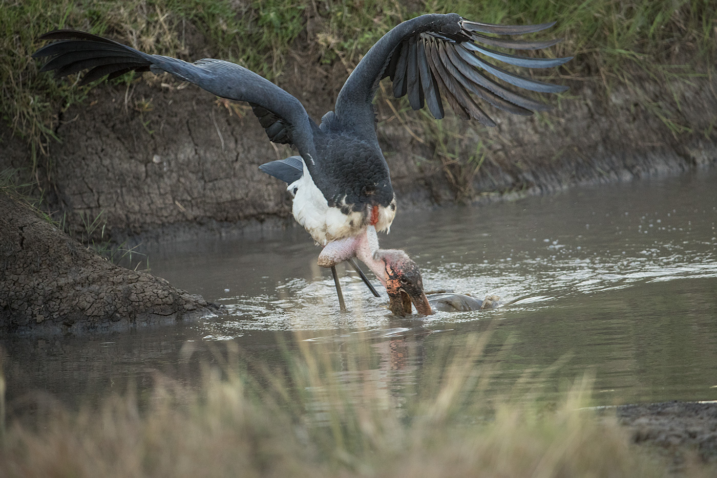
[[[431,315],[433,310],[423,292],[421,271],[408,254],[397,249],[379,249],[376,259],[384,264],[381,282],[389,295],[389,310],[395,315],[410,315],[411,305],[419,315]]]

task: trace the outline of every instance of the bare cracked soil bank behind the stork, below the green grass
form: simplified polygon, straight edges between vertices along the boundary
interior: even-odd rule
[[[346,72],[335,67],[322,76],[316,72],[323,70],[312,68],[303,76],[305,70],[295,60],[286,69],[294,73],[279,83],[318,119],[333,107]],[[546,98],[558,105],[549,113],[526,118],[491,110],[496,128],[452,115],[435,123],[379,94],[379,138],[399,209],[625,181],[717,162],[715,78],[644,78],[609,90],[588,79],[565,82],[569,95]],[[127,87],[96,87],[83,105],[59,118],[61,143],[51,145],[51,171],[38,177],[49,178],[48,210],[66,214],[75,233],[82,232],[82,218],[100,213],[113,239],[168,226],[176,234],[290,216],[285,185],[257,166],[291,150],[272,145],[248,107],[227,105],[171,79],[136,80]],[[27,166],[26,145],[1,128],[0,169]]]

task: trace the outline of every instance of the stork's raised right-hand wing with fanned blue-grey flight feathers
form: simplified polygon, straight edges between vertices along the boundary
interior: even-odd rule
[[[351,72],[338,94],[336,115],[341,123],[352,125],[355,130],[363,133],[374,130],[371,102],[379,81],[385,77],[393,82],[395,97],[408,95],[414,110],[422,108],[425,102],[430,112],[439,119],[444,115],[441,95],[461,118],[474,118],[489,126],[495,123],[471,94],[518,115],[546,110],[548,105],[531,100],[492,77],[523,90],[537,92],[560,92],[567,87],[515,75],[487,58],[527,68],[556,67],[571,58],[520,57],[489,47],[541,49],[559,40],[532,42],[486,34],[532,33],[552,25],[493,25],[467,21],[458,14],[429,14],[404,21],[376,42]]]

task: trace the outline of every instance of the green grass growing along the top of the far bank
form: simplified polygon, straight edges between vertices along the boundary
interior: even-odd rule
[[[197,43],[198,32],[204,40],[199,44],[209,54],[279,80],[285,60],[290,55],[306,59],[307,52],[308,68],[312,62],[315,68],[340,62],[348,74],[391,27],[427,12],[455,11],[467,19],[504,24],[557,21],[548,34],[564,41],[548,54],[575,59],[559,71],[536,75],[558,75],[606,89],[627,85],[674,135],[690,132],[688,125],[675,120],[678,100],[675,105],[654,103],[635,88],[635,75],[669,87],[668,80],[698,75],[695,64],[713,71],[711,59],[717,52],[717,4],[711,0],[0,0],[0,9],[1,119],[31,146],[27,166],[42,187],[52,183],[49,150],[60,140],[55,130],[62,112],[87,94],[75,77],[57,82],[52,75],[38,74],[41,62],[30,54],[39,47],[37,37],[52,29],[107,34],[147,52],[184,59],[196,59],[189,49]],[[379,97],[379,102],[385,100],[385,95]],[[406,107],[405,102],[396,104]],[[450,155],[466,138],[477,136],[480,127],[470,125],[456,138],[426,115],[414,115],[399,120],[411,123],[409,129],[435,146],[449,181],[451,175],[462,177],[453,178],[460,196],[477,171],[476,163]]]

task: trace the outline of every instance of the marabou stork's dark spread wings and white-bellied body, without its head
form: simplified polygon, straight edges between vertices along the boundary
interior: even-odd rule
[[[298,158],[272,161],[261,168],[289,183],[294,218],[323,246],[320,265],[332,267],[336,279],[334,266],[356,256],[356,249],[351,247],[360,243],[343,240],[365,236],[369,226],[388,231],[396,214],[389,168],[376,137],[373,100],[379,82],[389,77],[394,96],[408,95],[414,110],[426,105],[438,119],[444,116],[442,97],[460,118],[473,118],[488,126],[495,123],[475,98],[517,115],[547,110],[549,105],[505,84],[536,92],[561,92],[567,87],[518,76],[492,60],[517,67],[546,68],[564,64],[570,57],[522,57],[491,47],[550,47],[559,40],[525,41],[502,36],[539,32],[552,25],[486,24],[468,21],[458,14],[427,14],[404,21],[369,49],[338,93],[333,111],[323,115],[320,124],[309,118],[299,100],[288,92],[221,59],[189,63],[74,30],[42,35],[40,39],[60,41],[47,44],[33,57],[52,57],[41,71],[54,70],[57,77],[89,70],[82,84],[132,70],[168,72],[219,97],[248,102],[272,142],[298,150]],[[390,266],[391,261],[401,259],[389,254],[381,260]],[[345,310],[338,280],[336,287]]]

